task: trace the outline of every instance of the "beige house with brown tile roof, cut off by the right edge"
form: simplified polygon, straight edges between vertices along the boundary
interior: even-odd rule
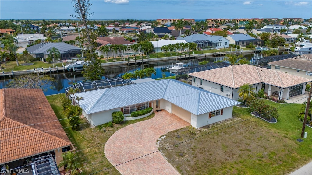
[[[312,78],[312,54],[300,55],[268,63],[272,70],[287,72],[305,78]]]

